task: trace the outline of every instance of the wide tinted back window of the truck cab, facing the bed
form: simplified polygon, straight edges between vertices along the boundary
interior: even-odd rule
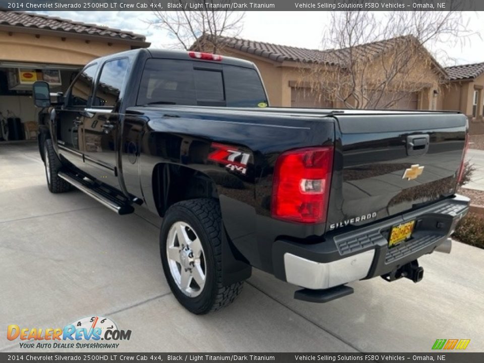
[[[254,69],[174,59],[148,59],[138,105],[257,107],[267,104]]]

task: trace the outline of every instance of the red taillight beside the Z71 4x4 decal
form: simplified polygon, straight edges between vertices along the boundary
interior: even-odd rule
[[[325,222],[332,166],[332,147],[281,154],[274,169],[272,216],[300,223]]]

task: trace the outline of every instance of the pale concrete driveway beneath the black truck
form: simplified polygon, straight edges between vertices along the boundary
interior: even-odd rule
[[[234,304],[195,316],[163,276],[159,218],[49,193],[34,143],[0,145],[0,187],[0,351],[22,350],[6,339],[9,324],[55,328],[93,315],[132,330],[117,351],[426,352],[436,339],[484,350],[482,250],[455,243],[420,259],[417,284],[359,281],[325,305],[294,300],[295,286],[254,270]]]

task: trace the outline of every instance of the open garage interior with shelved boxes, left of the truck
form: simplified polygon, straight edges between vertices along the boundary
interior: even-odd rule
[[[77,72],[76,66],[0,60],[0,142],[36,139],[38,110],[32,84],[42,80],[52,92],[65,92]]]

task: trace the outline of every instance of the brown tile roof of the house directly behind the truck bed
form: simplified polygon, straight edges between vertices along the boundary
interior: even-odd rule
[[[353,47],[352,51],[359,52],[361,56],[376,56],[392,48],[397,42],[414,41],[410,36],[397,37]],[[349,58],[349,48],[342,49],[307,49],[287,45],[278,45],[260,41],[239,38],[224,38],[225,46],[244,51],[250,54],[269,58],[275,62],[294,61],[304,63],[327,63],[344,66]]]

